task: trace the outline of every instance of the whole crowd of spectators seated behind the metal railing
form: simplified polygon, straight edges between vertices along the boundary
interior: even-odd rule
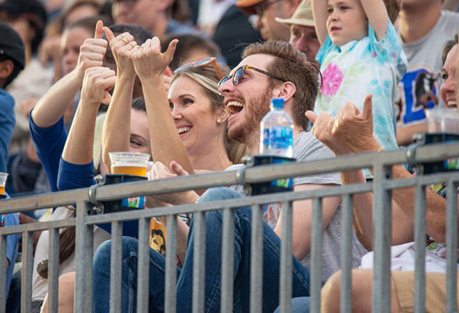
[[[86,188],[110,152],[151,155],[148,179],[237,170],[259,154],[272,98],[293,157],[403,149],[425,110],[457,110],[457,0],[0,0],[0,172],[7,197]],[[294,179],[294,191],[365,183],[373,169]],[[394,178],[412,177],[403,165]],[[426,312],[446,297],[446,185],[426,188]],[[234,199],[243,186],[145,197],[145,207]],[[371,310],[373,194],[353,198],[353,312]],[[323,199],[322,311],[339,310],[341,198]],[[282,204],[263,207],[263,312],[279,305]],[[6,214],[5,226],[75,216]],[[220,310],[221,211],[206,214],[205,310]],[[234,311],[250,304],[251,208],[234,211]],[[309,312],[312,200],[293,202],[294,312]],[[177,216],[177,312],[193,305],[193,216]],[[122,237],[122,312],[136,310],[138,240]],[[111,230],[94,227],[93,311],[110,305]],[[164,311],[166,219],[150,222],[150,312]],[[47,312],[49,233],[34,232],[32,312]],[[74,310],[74,227],[61,230],[59,312]],[[414,310],[414,189],[392,192],[392,312]],[[19,312],[19,235],[7,312]],[[20,250],[19,250],[20,252]],[[19,254],[20,257],[20,254]],[[15,266],[15,264],[17,266]],[[370,286],[370,287],[369,287]],[[459,298],[459,294],[458,294]]]

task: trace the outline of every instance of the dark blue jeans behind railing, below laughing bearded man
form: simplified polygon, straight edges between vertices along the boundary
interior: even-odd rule
[[[240,198],[229,188],[211,188],[200,202]],[[250,303],[250,207],[234,211],[234,311],[248,312]],[[220,311],[220,268],[222,247],[221,211],[206,214],[206,281],[205,312]],[[264,223],[263,250],[263,312],[273,312],[279,305],[280,239]],[[177,312],[191,312],[193,294],[193,221],[188,233],[186,258],[177,268]],[[130,237],[122,239],[122,312],[136,312],[137,246]],[[93,309],[108,312],[110,294],[111,242],[102,243],[93,263]],[[309,272],[293,257],[293,296],[309,296]],[[164,282],[166,259],[150,249],[150,312],[164,310]]]

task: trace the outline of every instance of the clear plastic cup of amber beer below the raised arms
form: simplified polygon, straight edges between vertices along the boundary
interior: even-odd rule
[[[140,152],[108,152],[112,174],[147,176],[150,154]]]

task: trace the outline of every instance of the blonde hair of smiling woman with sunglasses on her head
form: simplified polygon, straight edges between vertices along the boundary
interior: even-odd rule
[[[220,65],[223,75],[230,73],[230,69],[226,65]],[[223,104],[223,95],[218,92],[218,77],[212,65],[204,67],[187,67],[184,70],[181,70],[174,74],[172,77],[172,84],[175,79],[186,76],[193,81],[197,82],[202,86],[202,90],[211,100],[212,110],[215,112],[218,109],[222,109]],[[228,138],[227,129],[225,127],[225,149],[228,154],[228,159],[234,164],[242,163],[242,157],[250,154],[250,149],[243,143],[239,141],[234,141]]]

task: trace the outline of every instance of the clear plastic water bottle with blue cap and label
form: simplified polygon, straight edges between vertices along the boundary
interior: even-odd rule
[[[284,99],[271,99],[271,111],[260,123],[260,154],[293,156],[293,121],[284,111]]]

